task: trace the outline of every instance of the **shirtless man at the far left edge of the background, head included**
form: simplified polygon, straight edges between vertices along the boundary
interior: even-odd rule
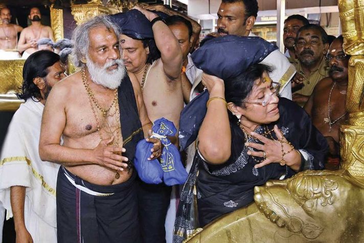
[[[22,31],[22,28],[18,25],[10,24],[10,9],[2,8],[0,10],[0,17],[3,23],[0,30],[0,50],[16,49],[17,34]]]

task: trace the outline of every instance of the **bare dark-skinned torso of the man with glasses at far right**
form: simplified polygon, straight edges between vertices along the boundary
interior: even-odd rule
[[[333,89],[333,81],[330,77],[322,79],[317,83],[309,103],[305,105],[307,113],[310,114],[313,125],[321,131],[325,137],[332,137],[336,143],[339,142],[339,125],[345,121],[346,116],[346,91],[347,83],[336,82]],[[330,120],[331,123],[337,118],[342,117],[331,125],[331,130],[328,122],[328,108],[330,91]]]

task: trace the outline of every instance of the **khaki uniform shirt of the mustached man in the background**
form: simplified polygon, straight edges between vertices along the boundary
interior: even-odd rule
[[[326,61],[325,58],[322,59],[321,64],[319,68],[311,72],[310,76],[306,77],[305,73],[302,70],[301,63],[298,62],[298,64],[295,66],[297,73],[301,74],[305,77],[305,80],[303,81],[302,89],[294,92],[293,94],[301,94],[305,96],[310,96],[313,92],[314,87],[316,84],[323,78],[329,76],[328,70],[326,68]],[[304,104],[299,104],[303,106]]]

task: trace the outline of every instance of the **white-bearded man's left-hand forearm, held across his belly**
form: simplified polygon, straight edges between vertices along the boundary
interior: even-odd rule
[[[92,149],[69,148],[59,144],[39,145],[40,159],[66,166],[93,164]]]

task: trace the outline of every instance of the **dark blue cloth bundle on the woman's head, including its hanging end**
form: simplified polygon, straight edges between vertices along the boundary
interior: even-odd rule
[[[243,73],[250,65],[261,62],[277,46],[260,37],[226,35],[207,41],[192,54],[192,60],[203,72],[227,80]],[[181,112],[179,146],[186,149],[196,140],[206,115],[207,91],[193,99]]]

